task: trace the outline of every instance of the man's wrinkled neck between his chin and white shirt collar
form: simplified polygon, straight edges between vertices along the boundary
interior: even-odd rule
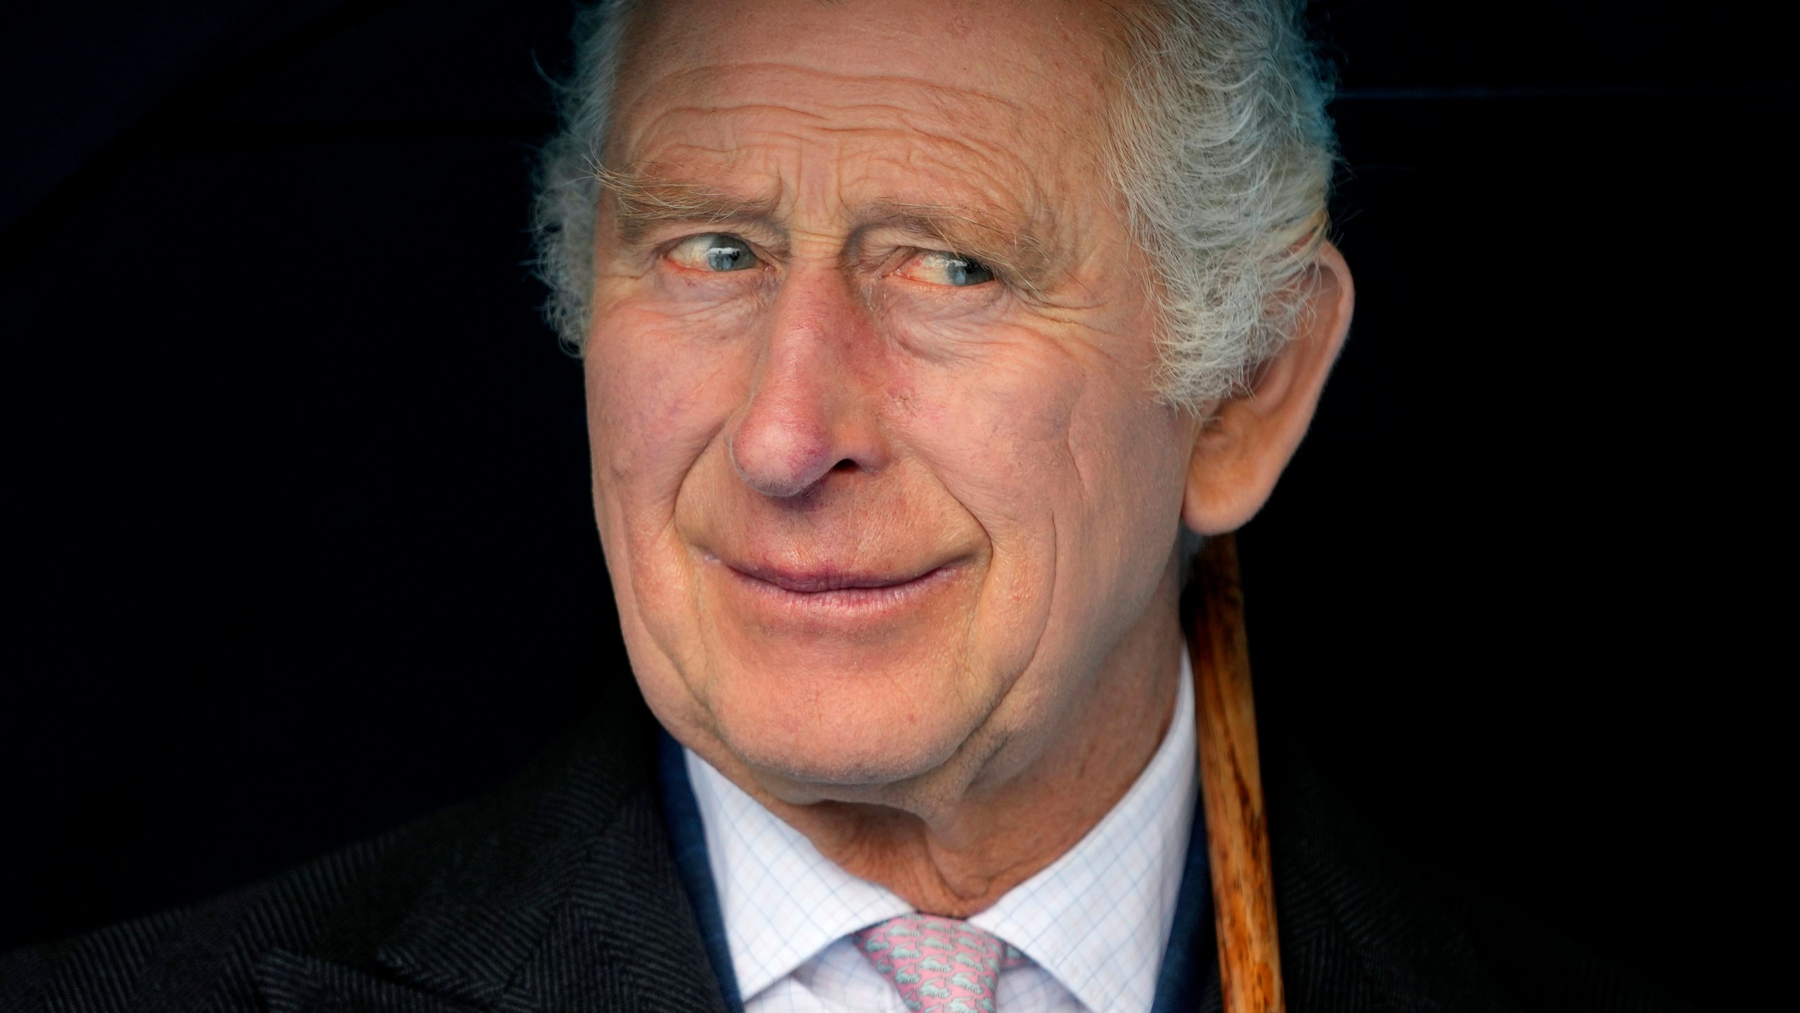
[[[970,735],[943,768],[873,800],[783,802],[734,757],[707,759],[850,874],[922,912],[974,916],[1080,842],[1156,755],[1184,649],[1177,600],[1170,571],[1057,721]]]

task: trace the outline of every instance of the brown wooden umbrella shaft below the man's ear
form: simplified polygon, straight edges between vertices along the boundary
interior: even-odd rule
[[[1193,562],[1197,602],[1188,629],[1201,737],[1206,854],[1213,869],[1219,973],[1226,1013],[1280,1013],[1282,954],[1274,937],[1269,824],[1256,761],[1244,591],[1237,541],[1208,539]]]

